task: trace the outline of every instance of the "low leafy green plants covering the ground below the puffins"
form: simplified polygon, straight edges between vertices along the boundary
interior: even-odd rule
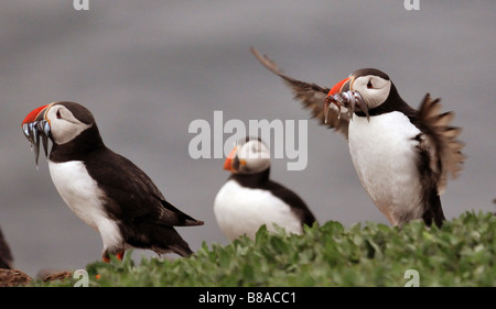
[[[303,235],[262,227],[256,241],[204,243],[188,258],[143,257],[133,265],[129,256],[88,264],[89,286],[405,286],[413,278],[408,269],[418,272],[420,286],[496,286],[496,216],[465,212],[441,229],[420,221],[345,229],[330,221]]]

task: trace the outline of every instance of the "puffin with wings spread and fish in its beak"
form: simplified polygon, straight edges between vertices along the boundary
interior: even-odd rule
[[[295,99],[322,124],[341,133],[362,186],[391,225],[411,220],[442,227],[440,196],[448,178],[457,178],[465,156],[461,128],[440,99],[427,93],[419,109],[399,95],[389,76],[360,68],[332,88],[291,78],[266,55],[256,58],[280,76]]]

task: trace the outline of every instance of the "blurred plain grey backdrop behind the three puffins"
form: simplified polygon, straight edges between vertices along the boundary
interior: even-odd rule
[[[101,240],[65,206],[44,156],[36,170],[20,123],[52,101],[93,111],[107,146],[140,166],[173,205],[204,220],[180,228],[197,250],[227,244],[213,201],[228,177],[223,158],[193,159],[195,119],[213,125],[267,119],[304,120],[280,78],[250,46],[298,79],[332,87],[360,67],[389,74],[418,107],[441,97],[463,128],[467,161],[448,184],[448,219],[466,210],[494,211],[496,197],[496,4],[487,1],[73,1],[8,0],[0,5],[0,227],[14,266],[83,268],[99,261]],[[296,191],[321,223],[388,223],[362,188],[345,140],[308,122],[305,169],[272,161],[272,178]],[[216,136],[228,139],[230,134]],[[214,139],[214,136],[212,136]],[[154,256],[134,251],[133,257]]]

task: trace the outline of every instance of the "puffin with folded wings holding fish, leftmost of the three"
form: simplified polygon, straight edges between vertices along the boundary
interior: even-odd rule
[[[126,250],[152,250],[159,255],[193,252],[174,227],[202,225],[165,200],[150,177],[131,161],[109,150],[91,112],[77,102],[42,106],[22,121],[34,147],[47,156],[53,184],[68,208],[96,230],[104,244],[101,258],[122,260]]]

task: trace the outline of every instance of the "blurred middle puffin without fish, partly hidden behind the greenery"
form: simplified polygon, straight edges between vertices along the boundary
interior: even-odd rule
[[[237,142],[224,169],[230,172],[214,200],[214,213],[225,236],[255,240],[261,225],[273,232],[301,234],[316,220],[306,203],[292,190],[270,179],[270,152],[255,137]]]

